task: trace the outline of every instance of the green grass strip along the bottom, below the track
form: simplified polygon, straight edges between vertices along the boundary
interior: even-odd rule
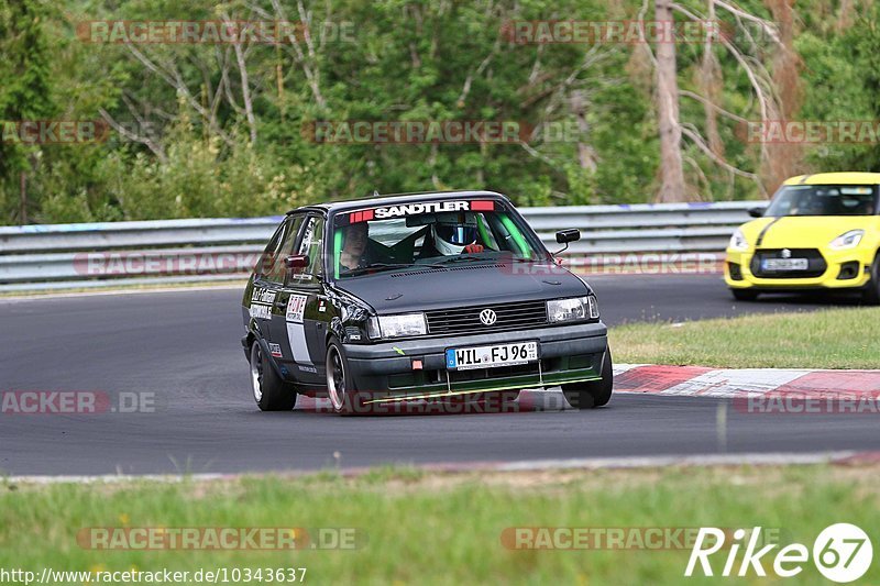
[[[0,483],[0,568],[292,566],[307,567],[307,582],[317,584],[681,584],[688,551],[509,550],[501,533],[509,527],[762,526],[778,528],[783,544],[812,548],[823,528],[849,521],[876,539],[877,474],[877,467],[833,466],[457,475],[378,469],[356,478]],[[76,541],[89,527],[354,528],[365,541],[354,551],[94,551]],[[717,572],[724,559],[715,560]],[[866,577],[880,581],[880,566]],[[796,583],[820,578],[807,564]]]

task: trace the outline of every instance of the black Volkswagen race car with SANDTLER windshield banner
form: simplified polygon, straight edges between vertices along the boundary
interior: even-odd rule
[[[578,230],[557,233],[568,245]],[[417,194],[287,213],[242,302],[254,398],[298,395],[340,413],[562,386],[612,396],[607,329],[590,286],[560,267],[510,201]]]

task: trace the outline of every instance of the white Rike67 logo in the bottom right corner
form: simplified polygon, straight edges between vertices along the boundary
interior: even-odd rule
[[[760,550],[757,549],[760,543],[760,527],[754,528],[750,532],[737,529],[733,534],[733,543],[725,543],[728,534],[714,527],[701,528],[691,550],[691,557],[688,560],[684,575],[693,576],[698,566],[703,575],[713,576],[713,572],[717,567],[713,570],[710,556],[724,548],[727,551],[727,557],[721,572],[722,576],[745,577],[749,575],[750,571],[756,576],[767,576],[763,564],[771,563],[771,556],[768,554],[779,544],[771,543]],[[737,557],[744,545],[743,557],[737,564]],[[803,571],[804,564],[810,559],[811,552],[806,545],[791,543],[772,556],[772,570],[780,577],[791,578]],[[843,584],[856,581],[868,572],[873,560],[873,546],[868,534],[859,527],[850,523],[835,523],[826,527],[813,542],[812,559],[816,570],[823,576],[832,582]]]

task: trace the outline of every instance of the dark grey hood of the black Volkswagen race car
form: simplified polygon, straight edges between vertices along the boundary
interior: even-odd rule
[[[568,270],[530,263],[386,272],[337,281],[378,313],[576,297],[588,286]]]

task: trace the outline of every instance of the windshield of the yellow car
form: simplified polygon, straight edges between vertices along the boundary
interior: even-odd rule
[[[787,185],[765,215],[873,215],[877,192],[861,185]]]

